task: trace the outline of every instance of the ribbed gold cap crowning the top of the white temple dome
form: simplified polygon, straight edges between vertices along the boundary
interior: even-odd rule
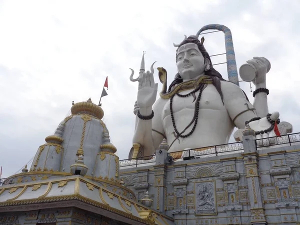
[[[87,101],[77,102],[72,105],[71,113],[74,114],[89,114],[101,119],[104,115],[102,108],[88,98]]]

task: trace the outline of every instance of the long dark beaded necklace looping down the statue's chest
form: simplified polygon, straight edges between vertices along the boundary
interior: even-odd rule
[[[207,84],[206,84],[207,85]],[[194,95],[194,93],[196,91],[199,90],[199,94],[198,94],[198,97],[195,101],[195,109],[194,109],[194,115],[193,115],[193,118],[192,120],[190,121],[190,123],[183,129],[182,132],[178,132],[177,128],[176,128],[176,124],[175,124],[175,119],[174,119],[174,115],[173,115],[173,107],[172,107],[172,101],[173,101],[173,96],[170,97],[170,114],[171,114],[171,119],[172,119],[172,124],[173,124],[173,128],[175,130],[175,133],[177,134],[177,137],[188,137],[190,136],[193,131],[195,130],[195,127],[197,125],[197,122],[198,122],[198,112],[199,112],[199,105],[200,105],[200,98],[201,98],[201,93],[202,93],[202,90],[204,89],[204,86],[205,86],[205,83],[201,83],[200,85],[198,85],[197,88],[195,88],[194,90],[190,91],[189,93],[187,94],[179,94],[179,93],[176,93],[177,96],[179,97],[188,97],[189,95]],[[187,134],[184,134],[182,135],[182,133],[192,124],[193,124],[193,127],[191,128],[191,131]]]

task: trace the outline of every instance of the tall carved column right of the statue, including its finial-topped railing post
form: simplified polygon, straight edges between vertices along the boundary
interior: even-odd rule
[[[253,132],[252,132],[253,131]],[[249,134],[249,135],[245,135]],[[258,153],[256,151],[254,130],[245,129],[243,133],[244,152],[241,154],[244,160],[246,177],[248,182],[248,196],[251,205],[251,224],[266,224],[264,208],[258,179]]]

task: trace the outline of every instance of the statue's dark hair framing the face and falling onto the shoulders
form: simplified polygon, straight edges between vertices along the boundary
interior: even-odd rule
[[[207,76],[209,76],[210,78],[212,78],[212,84],[215,86],[217,92],[220,94],[220,97],[221,97],[221,99],[223,101],[223,94],[222,94],[222,91],[221,91],[221,82],[220,82],[220,80],[224,80],[225,81],[225,79],[223,79],[223,77],[221,76],[221,74],[213,68],[211,60],[210,60],[210,57],[209,57],[209,54],[207,53],[204,45],[201,44],[201,42],[197,38],[189,36],[186,39],[184,39],[178,45],[178,48],[181,45],[186,44],[186,43],[195,43],[198,46],[199,51],[202,53],[202,55],[204,57],[204,61],[205,61],[205,58],[209,59],[210,69],[208,69],[207,71],[204,71],[204,74],[207,75]],[[178,48],[176,50],[176,61],[177,61]],[[178,84],[178,83],[181,83],[181,82],[182,82],[181,76],[179,75],[179,73],[176,73],[175,79],[171,82],[170,86],[168,87],[167,92],[169,92],[175,84]]]

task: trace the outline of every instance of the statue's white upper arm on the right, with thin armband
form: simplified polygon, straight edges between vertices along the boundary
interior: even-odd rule
[[[221,81],[223,102],[232,122],[237,128],[245,128],[245,121],[257,117],[255,108],[243,91],[234,83]]]

